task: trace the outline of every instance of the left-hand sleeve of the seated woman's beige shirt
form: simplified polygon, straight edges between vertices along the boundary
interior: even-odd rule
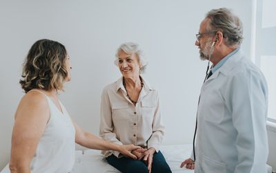
[[[115,133],[113,133],[113,122],[112,122],[112,109],[110,106],[110,100],[108,98],[108,89],[103,89],[101,93],[101,110],[100,110],[100,127],[99,134],[104,140],[108,140],[110,143],[117,143],[122,145],[122,143],[117,139]],[[119,157],[119,152],[110,151],[115,156]]]

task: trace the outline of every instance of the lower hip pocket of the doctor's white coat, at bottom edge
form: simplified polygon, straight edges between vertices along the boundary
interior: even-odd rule
[[[208,156],[203,156],[202,169],[206,173],[226,173],[226,164],[215,161]]]

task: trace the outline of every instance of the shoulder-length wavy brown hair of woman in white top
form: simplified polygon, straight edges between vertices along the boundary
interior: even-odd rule
[[[40,39],[35,42],[23,64],[19,83],[27,93],[31,89],[63,90],[66,71],[67,51],[59,42]]]

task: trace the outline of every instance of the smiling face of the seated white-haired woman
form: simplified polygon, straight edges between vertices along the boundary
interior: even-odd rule
[[[118,66],[124,78],[137,78],[139,77],[140,63],[137,55],[134,53],[129,55],[124,51],[118,53]]]

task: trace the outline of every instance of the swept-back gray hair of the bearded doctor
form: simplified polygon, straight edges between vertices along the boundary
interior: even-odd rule
[[[220,30],[228,46],[242,44],[242,21],[227,8],[213,9],[207,12],[210,30]]]

